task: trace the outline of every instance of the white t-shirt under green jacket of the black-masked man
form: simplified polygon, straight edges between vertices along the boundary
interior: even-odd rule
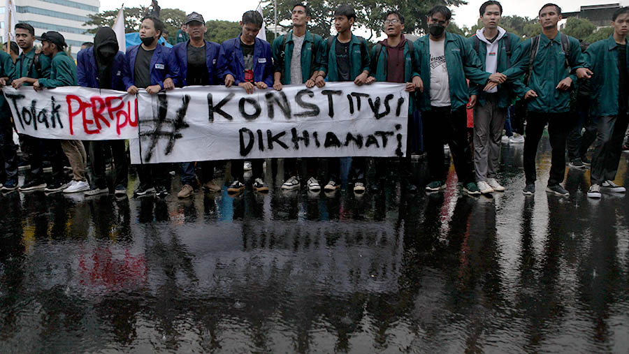
[[[431,105],[446,107],[450,105],[450,82],[445,61],[444,40],[431,41]]]

